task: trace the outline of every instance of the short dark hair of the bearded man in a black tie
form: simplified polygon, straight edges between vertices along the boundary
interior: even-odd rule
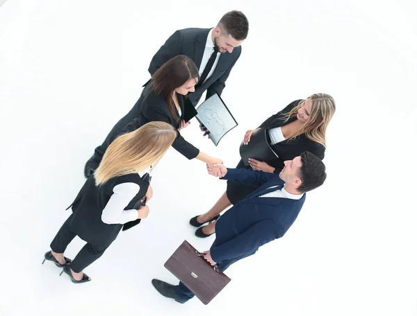
[[[218,27],[224,35],[231,35],[235,40],[245,40],[249,32],[249,21],[240,11],[230,11],[223,15],[218,23]]]

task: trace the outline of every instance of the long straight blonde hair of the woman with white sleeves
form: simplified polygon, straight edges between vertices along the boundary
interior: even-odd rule
[[[104,184],[112,177],[156,166],[176,137],[177,130],[165,122],[149,122],[138,130],[117,137],[95,170],[96,185]]]

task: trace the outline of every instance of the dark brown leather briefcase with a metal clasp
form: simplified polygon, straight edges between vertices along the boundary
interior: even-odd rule
[[[175,250],[164,265],[175,277],[207,305],[230,282],[229,277],[210,265],[203,254],[187,240]]]

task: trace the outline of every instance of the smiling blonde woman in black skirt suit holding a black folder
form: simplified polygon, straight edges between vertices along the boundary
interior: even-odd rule
[[[270,116],[259,128],[267,130],[270,147],[279,158],[271,161],[250,159],[249,166],[240,160],[236,168],[252,168],[265,173],[280,173],[284,168],[284,161],[292,160],[304,151],[309,151],[318,158],[325,157],[326,130],[336,110],[334,98],[329,94],[313,94],[305,100],[295,100],[277,114]],[[255,130],[248,130],[243,143],[250,142]],[[254,186],[246,186],[227,181],[227,190],[213,207],[206,213],[190,219],[190,225],[199,227],[195,231],[197,237],[205,238],[215,232],[215,222],[220,213],[243,200],[256,190]],[[204,227],[200,227],[205,223]]]

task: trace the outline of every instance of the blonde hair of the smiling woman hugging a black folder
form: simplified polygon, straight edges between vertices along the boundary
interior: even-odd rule
[[[336,111],[336,103],[334,102],[334,98],[329,96],[329,94],[313,94],[307,99],[311,100],[309,118],[302,125],[301,129],[296,134],[291,135],[290,138],[293,139],[300,134],[306,134],[306,137],[312,141],[321,143],[322,146],[326,147],[326,129]],[[286,116],[286,121],[293,116],[297,116],[298,109],[300,109],[302,103],[305,101],[300,101],[290,112],[283,114]]]

